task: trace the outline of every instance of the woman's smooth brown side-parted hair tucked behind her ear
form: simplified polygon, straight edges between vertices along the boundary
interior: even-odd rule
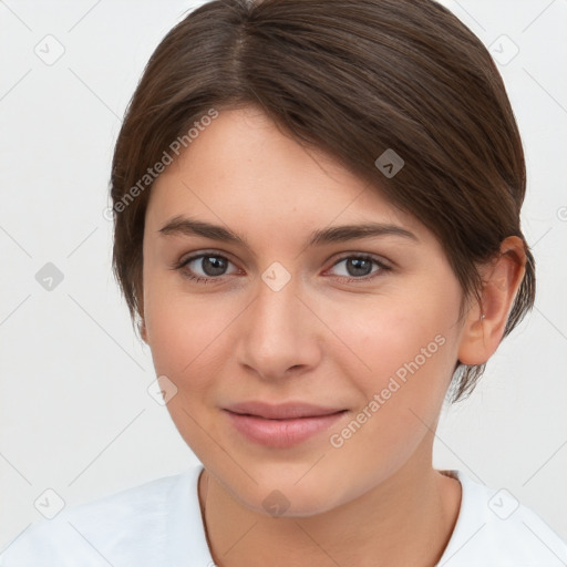
[[[116,141],[113,270],[132,320],[143,317],[148,167],[212,107],[247,105],[432,230],[464,297],[480,299],[477,267],[520,237],[526,274],[505,336],[533,306],[520,136],[489,53],[455,16],[432,0],[214,0],[152,54]],[[392,177],[374,165],[389,148],[404,161]],[[456,369],[453,401],[484,364]]]

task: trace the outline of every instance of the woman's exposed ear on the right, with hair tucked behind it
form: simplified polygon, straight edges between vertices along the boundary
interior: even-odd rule
[[[498,348],[525,266],[524,241],[509,236],[502,241],[499,254],[481,267],[481,303],[471,306],[461,334],[458,360],[463,364],[483,364]]]

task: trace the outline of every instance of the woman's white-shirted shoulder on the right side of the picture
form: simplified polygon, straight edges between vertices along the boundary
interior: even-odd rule
[[[460,471],[461,512],[439,567],[567,565],[567,543],[506,488],[493,489]]]

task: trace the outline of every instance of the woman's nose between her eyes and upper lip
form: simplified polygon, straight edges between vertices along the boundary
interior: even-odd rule
[[[315,369],[321,359],[323,326],[308,302],[295,278],[279,290],[259,278],[254,300],[239,317],[238,362],[267,381]]]

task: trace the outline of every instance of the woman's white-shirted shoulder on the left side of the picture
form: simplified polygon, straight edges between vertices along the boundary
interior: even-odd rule
[[[172,542],[190,549],[176,533],[200,535],[200,471],[156,478],[37,522],[7,546],[0,567],[175,565],[164,561],[176,553]]]

